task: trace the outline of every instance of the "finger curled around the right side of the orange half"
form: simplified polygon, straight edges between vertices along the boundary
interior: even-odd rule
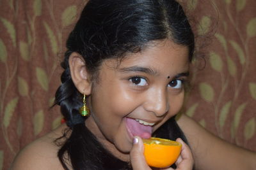
[[[179,167],[177,169],[192,169],[194,160],[189,146],[180,138],[178,138],[176,141],[182,145],[180,156],[175,163],[177,167]]]

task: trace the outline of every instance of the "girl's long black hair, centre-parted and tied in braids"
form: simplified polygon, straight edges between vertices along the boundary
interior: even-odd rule
[[[68,163],[73,169],[131,169],[127,162],[111,155],[84,125],[86,118],[78,112],[81,94],[72,82],[68,66],[70,54],[83,56],[88,73],[96,80],[103,60],[122,59],[126,53],[140,52],[153,41],[163,39],[188,46],[189,61],[192,60],[194,34],[182,6],[174,0],[90,0],[86,4],[67,39],[67,52],[61,63],[62,84],[55,96],[55,104],[60,105],[72,131],[58,152],[65,169]],[[154,135],[186,141],[174,118]]]

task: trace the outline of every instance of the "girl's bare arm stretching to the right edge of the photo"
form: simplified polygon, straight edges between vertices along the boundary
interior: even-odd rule
[[[186,115],[182,115],[177,123],[189,141],[196,170],[255,169],[255,152],[223,141]]]

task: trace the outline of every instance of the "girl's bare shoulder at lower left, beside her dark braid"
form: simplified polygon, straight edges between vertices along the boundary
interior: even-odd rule
[[[13,160],[10,169],[63,169],[57,156],[59,146],[54,140],[62,136],[65,128],[65,125],[61,125],[24,147]]]

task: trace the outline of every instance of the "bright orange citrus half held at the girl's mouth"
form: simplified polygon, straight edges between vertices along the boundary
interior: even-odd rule
[[[144,156],[148,166],[168,167],[179,157],[181,144],[169,139],[150,138],[143,139]]]

